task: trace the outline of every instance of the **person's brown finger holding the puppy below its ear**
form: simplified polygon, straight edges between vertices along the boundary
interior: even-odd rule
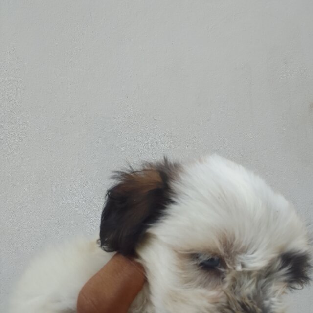
[[[78,313],[127,313],[145,282],[143,267],[115,254],[84,285],[78,295]]]

